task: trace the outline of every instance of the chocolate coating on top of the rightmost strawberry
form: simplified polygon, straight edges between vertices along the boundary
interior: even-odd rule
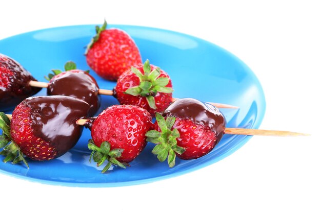
[[[188,119],[195,124],[208,127],[215,133],[217,141],[224,134],[226,119],[222,112],[211,104],[196,99],[178,99],[174,101],[163,113],[163,116],[174,116]]]

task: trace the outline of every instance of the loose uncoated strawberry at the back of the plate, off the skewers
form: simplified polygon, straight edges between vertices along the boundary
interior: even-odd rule
[[[99,28],[86,50],[88,65],[101,77],[116,81],[134,64],[142,63],[134,40],[123,30],[107,29],[107,22]]]

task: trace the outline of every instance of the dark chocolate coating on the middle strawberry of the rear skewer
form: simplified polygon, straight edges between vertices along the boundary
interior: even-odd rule
[[[61,73],[49,82],[47,94],[69,96],[84,100],[90,105],[89,116],[99,109],[99,87],[96,80],[82,70],[70,70]]]

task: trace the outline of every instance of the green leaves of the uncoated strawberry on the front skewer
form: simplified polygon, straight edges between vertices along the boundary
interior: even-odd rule
[[[124,169],[126,169],[126,165],[128,166],[127,163],[121,163],[118,160],[116,160],[116,158],[122,156],[124,149],[110,150],[110,143],[108,141],[104,141],[101,144],[101,147],[97,147],[93,143],[92,139],[90,139],[88,142],[88,149],[92,151],[89,157],[89,162],[91,162],[92,158],[97,163],[97,167],[100,167],[105,162],[105,160],[108,161],[102,173],[105,173],[111,167],[112,164],[118,165],[119,167],[122,167]]]

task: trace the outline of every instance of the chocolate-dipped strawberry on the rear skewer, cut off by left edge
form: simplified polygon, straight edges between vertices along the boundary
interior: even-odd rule
[[[41,90],[31,87],[31,80],[35,81],[24,67],[12,58],[0,54],[0,110],[12,109],[25,98]]]

